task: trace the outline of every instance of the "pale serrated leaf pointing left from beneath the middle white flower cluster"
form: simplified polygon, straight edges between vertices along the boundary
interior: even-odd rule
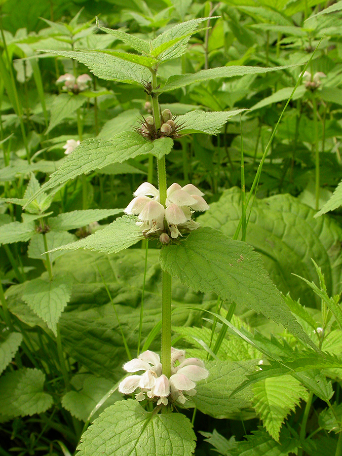
[[[142,231],[135,222],[136,217],[124,215],[114,220],[103,230],[98,230],[84,239],[63,245],[58,249],[77,250],[83,248],[104,253],[118,253],[144,239]]]

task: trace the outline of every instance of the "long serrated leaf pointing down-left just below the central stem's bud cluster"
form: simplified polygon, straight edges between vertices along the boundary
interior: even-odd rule
[[[69,179],[101,169],[113,163],[121,163],[130,158],[143,154],[153,154],[162,158],[169,154],[173,141],[170,138],[160,138],[147,141],[138,133],[124,132],[114,136],[110,141],[104,139],[85,139],[69,154],[62,165],[46,182],[40,192],[64,184]],[[38,195],[35,194],[34,197]]]

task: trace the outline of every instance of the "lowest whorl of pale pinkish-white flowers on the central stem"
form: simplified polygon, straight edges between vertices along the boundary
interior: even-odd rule
[[[187,396],[196,394],[196,383],[207,378],[209,372],[203,361],[198,358],[185,358],[184,350],[171,347],[171,376],[162,374],[162,365],[159,355],[147,350],[124,364],[127,372],[144,371],[141,375],[130,375],[123,379],[119,391],[123,394],[132,394],[137,389],[137,401],[147,396],[150,399],[158,398],[157,405],[168,405],[178,401],[184,404]],[[146,396],[145,396],[146,395]]]

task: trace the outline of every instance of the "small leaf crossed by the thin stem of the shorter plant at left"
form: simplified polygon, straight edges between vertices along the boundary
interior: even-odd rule
[[[74,235],[65,231],[49,231],[45,236],[48,244],[48,250],[56,249],[57,247],[67,244],[68,242],[72,242],[76,239]],[[45,252],[46,249],[44,245],[44,238],[42,234],[36,233],[28,245],[27,256],[29,258],[36,258],[45,261]],[[49,253],[50,261],[54,262],[56,258],[61,255],[63,255],[63,252],[61,251]]]

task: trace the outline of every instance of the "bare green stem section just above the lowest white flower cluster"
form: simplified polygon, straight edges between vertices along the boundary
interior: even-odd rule
[[[171,376],[171,276],[163,271],[162,279],[162,366],[163,374]]]

